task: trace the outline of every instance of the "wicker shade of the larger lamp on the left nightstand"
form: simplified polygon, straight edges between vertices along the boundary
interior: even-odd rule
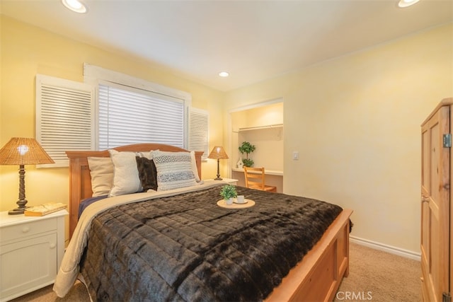
[[[13,137],[0,149],[0,165],[55,163],[36,139]]]

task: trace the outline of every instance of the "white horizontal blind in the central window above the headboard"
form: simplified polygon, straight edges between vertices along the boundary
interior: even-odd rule
[[[101,83],[98,146],[156,143],[185,147],[185,104],[168,95]]]

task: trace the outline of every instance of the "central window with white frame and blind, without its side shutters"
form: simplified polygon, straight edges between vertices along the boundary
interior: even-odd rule
[[[139,142],[188,149],[190,93],[90,64],[84,81],[98,90],[97,149]]]

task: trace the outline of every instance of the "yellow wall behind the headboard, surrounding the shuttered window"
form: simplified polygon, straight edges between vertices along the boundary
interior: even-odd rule
[[[93,64],[130,74],[192,94],[195,108],[210,112],[210,146],[223,144],[224,93],[173,76],[150,62],[70,40],[11,18],[1,16],[0,145],[11,137],[35,137],[35,76],[45,74],[83,81],[83,64]],[[217,126],[217,127],[216,127]],[[25,167],[29,205],[68,202],[67,168]],[[202,165],[202,177],[214,178],[217,162]],[[0,211],[17,207],[18,167],[0,166]]]

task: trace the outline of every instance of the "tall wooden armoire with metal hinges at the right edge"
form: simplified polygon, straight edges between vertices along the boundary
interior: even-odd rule
[[[420,280],[423,301],[452,301],[452,134],[453,98],[445,98],[422,124]]]

